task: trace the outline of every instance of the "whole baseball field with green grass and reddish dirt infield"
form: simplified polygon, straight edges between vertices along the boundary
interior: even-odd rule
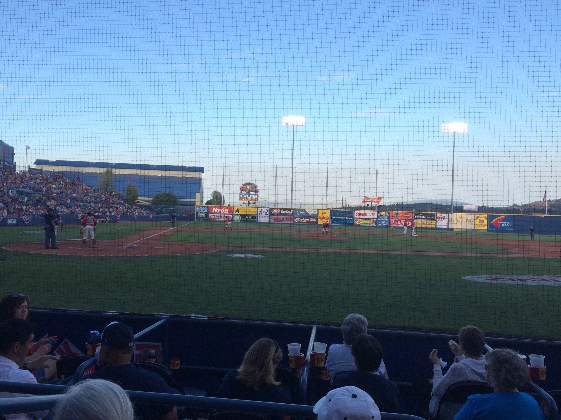
[[[72,225],[59,232],[59,250],[44,249],[40,227],[4,227],[0,294],[26,293],[36,307],[323,324],[359,312],[373,327],[475,324],[487,334],[561,338],[558,236],[233,227],[102,224],[98,248],[82,249]]]

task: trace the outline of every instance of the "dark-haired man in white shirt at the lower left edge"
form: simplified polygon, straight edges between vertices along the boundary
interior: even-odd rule
[[[56,356],[39,356],[26,360],[27,352],[33,346],[33,325],[23,319],[8,319],[0,324],[0,380],[36,384],[37,380],[29,372],[33,368],[47,367],[45,361],[58,360]],[[20,368],[21,367],[21,368]],[[27,394],[0,393],[0,398],[28,396]],[[6,420],[30,420],[44,417],[48,412],[3,414]]]

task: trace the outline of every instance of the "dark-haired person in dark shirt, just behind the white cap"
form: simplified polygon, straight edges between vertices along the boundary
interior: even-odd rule
[[[396,384],[375,374],[384,356],[378,340],[369,334],[359,335],[353,341],[351,351],[356,363],[356,370],[339,373],[333,379],[331,388],[356,386],[374,399],[380,411],[405,414],[405,406]]]

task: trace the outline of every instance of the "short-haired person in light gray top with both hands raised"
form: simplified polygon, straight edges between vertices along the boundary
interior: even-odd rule
[[[429,360],[433,363],[433,383],[426,378],[413,379],[413,390],[419,397],[422,408],[435,417],[438,411],[440,398],[444,395],[450,385],[462,381],[485,382],[485,360],[483,350],[485,348],[485,336],[483,332],[473,325],[466,325],[458,334],[458,349],[452,342],[450,349],[462,360],[453,363],[448,372],[442,375],[442,366],[438,357],[438,350],[433,349]],[[463,407],[462,403],[444,403],[440,408],[440,419],[452,420],[454,415]]]

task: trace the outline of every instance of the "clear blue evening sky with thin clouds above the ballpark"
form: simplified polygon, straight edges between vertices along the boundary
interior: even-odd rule
[[[205,166],[295,202],[561,197],[557,1],[7,1],[0,139],[35,158]]]

